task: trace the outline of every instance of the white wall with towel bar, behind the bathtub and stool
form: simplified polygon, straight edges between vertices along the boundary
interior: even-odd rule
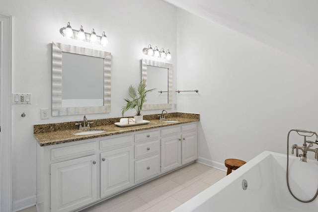
[[[177,89],[199,90],[178,111],[200,114],[200,161],[286,153],[289,130],[318,130],[317,67],[182,9],[177,55]]]

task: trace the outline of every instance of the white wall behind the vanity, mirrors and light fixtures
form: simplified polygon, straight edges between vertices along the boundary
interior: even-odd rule
[[[87,118],[120,117],[128,86],[141,79],[140,59],[147,58],[142,53],[144,47],[152,44],[169,49],[176,69],[176,8],[162,0],[0,0],[0,14],[13,17],[12,92],[32,93],[31,105],[12,106],[12,209],[17,210],[35,203],[37,143],[33,125],[82,120],[82,115],[40,119],[41,108],[51,110],[52,41],[112,53],[111,112]],[[65,39],[59,30],[68,21],[75,29],[83,25],[88,32],[92,28],[98,34],[105,31],[108,46]],[[79,85],[79,89],[84,87]],[[159,111],[143,112],[152,113]]]

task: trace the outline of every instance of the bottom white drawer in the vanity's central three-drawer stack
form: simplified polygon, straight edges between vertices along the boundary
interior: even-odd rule
[[[159,175],[159,154],[135,161],[135,183],[139,183]]]

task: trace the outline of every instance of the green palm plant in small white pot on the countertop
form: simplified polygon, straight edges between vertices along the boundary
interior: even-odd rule
[[[147,81],[146,79],[142,79],[136,88],[133,85],[130,85],[128,88],[128,95],[131,99],[124,98],[126,102],[126,106],[122,107],[122,116],[128,110],[135,109],[136,115],[134,116],[136,123],[140,123],[143,121],[143,115],[141,114],[143,104],[146,101],[147,94],[155,88],[147,90]]]

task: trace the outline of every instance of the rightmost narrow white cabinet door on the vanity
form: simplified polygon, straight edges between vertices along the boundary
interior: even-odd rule
[[[182,134],[182,165],[198,159],[197,132]]]

